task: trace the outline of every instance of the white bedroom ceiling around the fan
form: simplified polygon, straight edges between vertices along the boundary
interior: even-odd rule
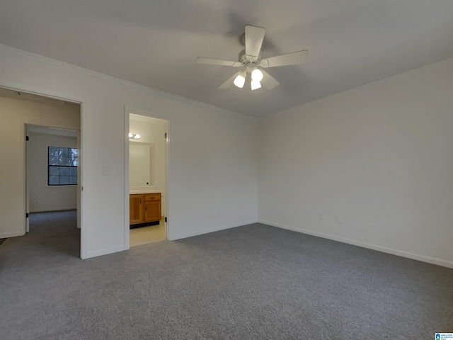
[[[308,62],[217,89],[237,69],[195,58],[236,60],[246,25],[263,57]],[[257,117],[452,58],[452,38],[452,0],[0,0],[1,44]]]

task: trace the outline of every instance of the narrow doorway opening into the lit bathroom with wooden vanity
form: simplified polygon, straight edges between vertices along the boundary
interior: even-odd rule
[[[125,238],[130,246],[168,239],[168,120],[127,112]]]

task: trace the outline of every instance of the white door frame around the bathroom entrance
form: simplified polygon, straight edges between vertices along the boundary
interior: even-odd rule
[[[170,230],[170,195],[169,195],[169,185],[170,183],[170,119],[168,117],[164,117],[163,115],[157,115],[156,113],[151,113],[149,111],[139,110],[137,108],[132,108],[130,106],[125,106],[125,130],[124,130],[124,154],[125,154],[125,250],[130,249],[130,223],[129,223],[129,120],[130,120],[130,113],[134,115],[142,115],[148,118],[156,118],[160,120],[165,120],[167,123],[167,137],[166,137],[166,198],[165,198],[165,206],[166,206],[166,213],[165,213],[165,238],[169,238],[169,230]]]

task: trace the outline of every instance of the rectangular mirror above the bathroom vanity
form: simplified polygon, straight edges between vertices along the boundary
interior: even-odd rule
[[[154,144],[129,142],[129,186],[154,186]]]

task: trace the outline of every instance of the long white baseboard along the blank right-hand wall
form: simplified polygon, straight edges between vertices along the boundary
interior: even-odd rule
[[[362,246],[362,248],[382,251],[383,253],[406,257],[408,259],[413,259],[413,260],[422,261],[422,262],[426,262],[426,263],[432,263],[432,264],[436,264],[437,266],[453,268],[452,261],[436,259],[435,257],[414,254],[414,253],[410,253],[408,251],[391,249],[391,248],[387,248],[386,246],[378,246],[377,244],[369,244],[367,242],[360,242],[360,241],[356,241],[355,239],[346,239],[344,237],[338,237],[338,236],[333,236],[330,234],[324,234],[322,232],[314,232],[314,231],[307,230],[307,229],[291,227],[289,225],[282,225],[280,223],[275,223],[275,222],[270,222],[270,221],[265,221],[265,220],[258,220],[258,222],[263,223],[264,225],[272,225],[273,227],[292,230],[293,232],[301,232],[302,234],[308,234],[308,235],[312,235],[312,236],[316,236],[316,237],[322,237],[323,239],[331,239],[333,241],[352,244],[354,246]]]

